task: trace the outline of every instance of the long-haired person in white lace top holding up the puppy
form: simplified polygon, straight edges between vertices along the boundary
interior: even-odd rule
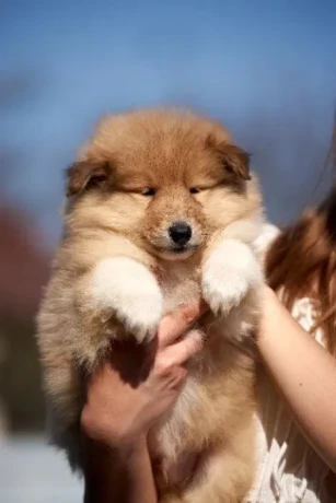
[[[336,186],[282,233],[266,226],[269,286],[256,347],[257,473],[247,503],[332,503],[336,495]],[[155,361],[137,388],[105,363],[88,384],[81,422],[85,502],[155,503],[147,442],[174,405],[187,360],[201,348],[194,304],[162,319]],[[181,336],[189,331],[189,337]],[[120,348],[123,351],[123,348]],[[113,389],[113,396],[112,390]],[[193,473],[188,459],[183,476]]]

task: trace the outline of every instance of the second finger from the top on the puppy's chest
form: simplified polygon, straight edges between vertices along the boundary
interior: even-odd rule
[[[201,350],[202,343],[204,334],[200,330],[190,330],[181,341],[162,351],[158,364],[163,370],[183,365]]]

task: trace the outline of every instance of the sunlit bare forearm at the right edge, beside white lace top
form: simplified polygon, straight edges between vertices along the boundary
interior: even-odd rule
[[[299,428],[336,470],[336,361],[266,292],[259,354]]]

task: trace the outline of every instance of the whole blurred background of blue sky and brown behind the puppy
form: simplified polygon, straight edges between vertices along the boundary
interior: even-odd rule
[[[2,503],[81,501],[45,445],[33,334],[63,169],[97,117],[177,104],[222,119],[283,224],[331,180],[335,26],[335,0],[0,2]]]

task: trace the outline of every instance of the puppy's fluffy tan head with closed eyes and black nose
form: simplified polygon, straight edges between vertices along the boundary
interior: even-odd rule
[[[184,259],[259,206],[250,179],[248,155],[217,122],[175,110],[111,116],[68,171],[70,220]]]

